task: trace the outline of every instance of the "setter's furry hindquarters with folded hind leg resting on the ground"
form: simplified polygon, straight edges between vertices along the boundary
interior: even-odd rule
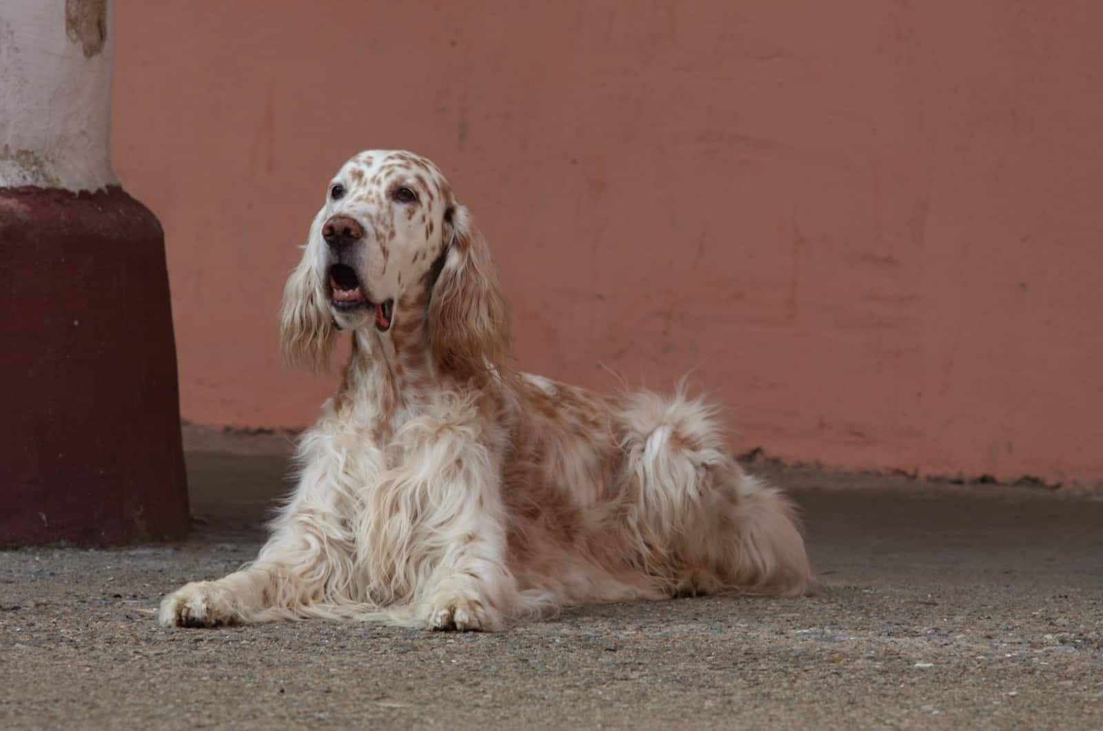
[[[792,504],[743,473],[713,410],[682,393],[633,394],[622,411],[649,570],[672,594],[802,594],[811,569]]]

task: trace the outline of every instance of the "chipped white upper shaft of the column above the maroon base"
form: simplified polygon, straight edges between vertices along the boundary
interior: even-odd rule
[[[0,1],[0,187],[94,191],[118,183],[113,4]]]

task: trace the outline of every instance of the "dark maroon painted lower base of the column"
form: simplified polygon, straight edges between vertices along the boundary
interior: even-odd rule
[[[188,527],[161,225],[118,187],[0,188],[0,544]]]

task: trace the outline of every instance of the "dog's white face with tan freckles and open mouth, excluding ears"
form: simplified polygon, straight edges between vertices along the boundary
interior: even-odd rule
[[[390,328],[396,303],[425,286],[443,251],[443,219],[452,204],[440,170],[411,152],[370,150],[342,166],[311,235],[341,328]]]

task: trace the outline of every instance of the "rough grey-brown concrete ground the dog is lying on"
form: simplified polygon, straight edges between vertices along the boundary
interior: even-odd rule
[[[767,469],[808,598],[158,628],[164,592],[254,555],[287,444],[189,430],[183,544],[0,553],[0,728],[1103,729],[1103,501],[1039,488]]]

